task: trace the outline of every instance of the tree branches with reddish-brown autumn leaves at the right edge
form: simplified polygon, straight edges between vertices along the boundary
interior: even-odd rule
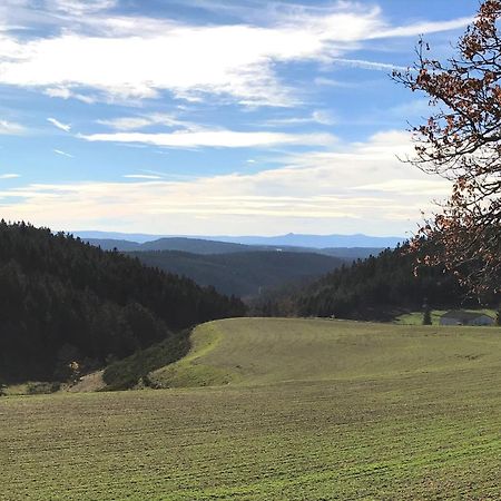
[[[423,171],[452,181],[439,214],[414,245],[434,242],[430,264],[443,264],[472,293],[501,293],[501,0],[485,0],[460,38],[456,56],[431,58],[423,40],[418,61],[393,78],[430,98],[431,116],[413,129]]]

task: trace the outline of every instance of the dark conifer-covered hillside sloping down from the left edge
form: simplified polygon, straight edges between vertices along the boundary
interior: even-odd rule
[[[63,234],[0,223],[0,377],[61,379],[245,313],[237,298]]]

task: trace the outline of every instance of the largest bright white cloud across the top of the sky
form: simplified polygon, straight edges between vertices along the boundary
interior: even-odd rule
[[[52,9],[73,13],[95,12],[114,3],[50,2]],[[326,62],[333,58],[340,62],[366,40],[449,30],[468,21],[392,27],[381,9],[352,2],[320,10],[291,7],[267,26],[88,18],[71,18],[61,35],[50,38],[0,38],[0,84],[40,88],[65,99],[85,100],[90,91],[89,101],[156,98],[168,90],[177,98],[195,101],[210,94],[242,105],[286,107],[298,99],[281,81],[277,62]],[[88,22],[86,32],[94,30],[94,35],[82,33],[84,22]],[[354,59],[344,62],[370,69],[385,69],[387,65]]]

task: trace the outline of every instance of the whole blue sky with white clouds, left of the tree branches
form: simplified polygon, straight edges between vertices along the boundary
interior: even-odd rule
[[[2,0],[0,216],[55,230],[409,236],[402,161],[477,0]]]

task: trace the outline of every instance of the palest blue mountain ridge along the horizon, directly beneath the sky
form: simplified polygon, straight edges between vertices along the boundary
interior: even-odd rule
[[[148,242],[158,240],[160,238],[189,238],[194,240],[212,240],[224,242],[229,244],[243,245],[259,245],[259,246],[288,246],[288,247],[310,247],[310,248],[326,248],[326,247],[373,247],[386,248],[395,247],[396,244],[403,242],[405,238],[387,236],[377,237],[363,234],[356,235],[301,235],[289,233],[287,235],[278,236],[200,236],[200,235],[148,235],[148,234],[127,234],[114,232],[73,232],[75,236],[79,236],[86,240],[94,239],[112,239],[121,242],[131,242],[137,244],[145,244]]]

